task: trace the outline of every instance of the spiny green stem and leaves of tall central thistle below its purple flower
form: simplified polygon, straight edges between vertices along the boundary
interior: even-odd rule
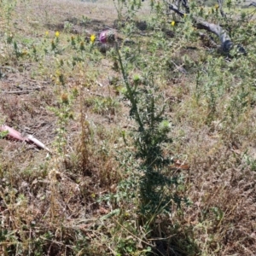
[[[137,131],[133,134],[137,150],[133,157],[139,162],[138,170],[143,172],[140,178],[140,212],[143,222],[154,223],[154,218],[160,212],[170,211],[172,201],[178,205],[182,201],[182,198],[175,197],[170,190],[166,193],[164,189],[177,184],[176,177],[165,175],[172,158],[163,153],[164,145],[172,143],[169,137],[172,125],[166,119],[166,105],[154,83],[154,74],[149,73],[147,77],[135,75],[131,79],[118,44],[116,54],[125,83],[125,97],[131,102],[130,115],[137,123]]]

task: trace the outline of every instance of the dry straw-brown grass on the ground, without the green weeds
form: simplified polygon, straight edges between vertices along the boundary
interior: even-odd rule
[[[148,6],[141,15],[146,14]],[[112,1],[18,1],[11,25],[7,16],[0,21],[0,36],[12,34],[29,50],[29,44],[42,44],[45,32],[54,38],[59,31],[65,46],[71,34],[87,40],[91,33],[115,26],[116,17]],[[71,31],[65,31],[65,21],[73,24]],[[186,54],[199,58],[201,52]],[[255,170],[245,158],[255,161],[253,109],[233,126],[219,125],[224,108],[219,104],[215,123],[208,125],[204,102],[195,102],[193,74],[176,70],[173,79],[160,79],[166,82],[161,88],[175,127],[166,154],[189,164],[189,170],[177,168],[175,173],[184,179],[178,193],[193,203],[182,209],[173,206],[168,218],[159,217],[154,236],[160,239],[154,242],[147,230],[137,229],[135,203],[114,197],[119,182],[128,178],[119,153],[133,150],[125,146],[122,131],[134,124],[129,104],[109,82],[120,77],[113,61],[104,56],[97,65],[86,63],[73,70],[56,64],[61,58],[72,59],[71,52],[50,55],[40,63],[29,57],[17,61],[3,38],[1,56],[1,123],[33,134],[54,154],[0,139],[0,254],[121,255],[115,250],[126,236],[137,244],[138,253],[154,244],[158,255],[255,255]],[[56,76],[60,70],[65,86]],[[64,111],[66,96],[72,118],[63,120],[50,108]],[[67,131],[60,136],[57,129],[63,124]],[[104,201],[105,195],[113,198]]]

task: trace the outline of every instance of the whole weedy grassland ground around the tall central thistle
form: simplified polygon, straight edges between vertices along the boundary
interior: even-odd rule
[[[169,20],[162,30],[170,51],[153,52],[147,45],[160,45],[154,33],[161,31],[153,28],[149,1],[143,4],[126,26],[113,1],[0,1],[1,125],[51,149],[1,133],[0,254],[256,254],[256,97],[247,85],[254,83],[254,59],[232,62],[216,51],[211,58],[212,49],[195,36],[185,47],[179,24]],[[135,150],[137,126],[114,48],[102,53],[90,42],[109,27],[134,65],[131,77],[142,72],[132,62],[134,44],[142,45],[143,61],[157,60],[148,68],[157,73],[172,121],[166,172],[181,177],[174,190],[190,202],[171,204],[150,224],[138,211],[134,181],[143,174],[127,153]]]

